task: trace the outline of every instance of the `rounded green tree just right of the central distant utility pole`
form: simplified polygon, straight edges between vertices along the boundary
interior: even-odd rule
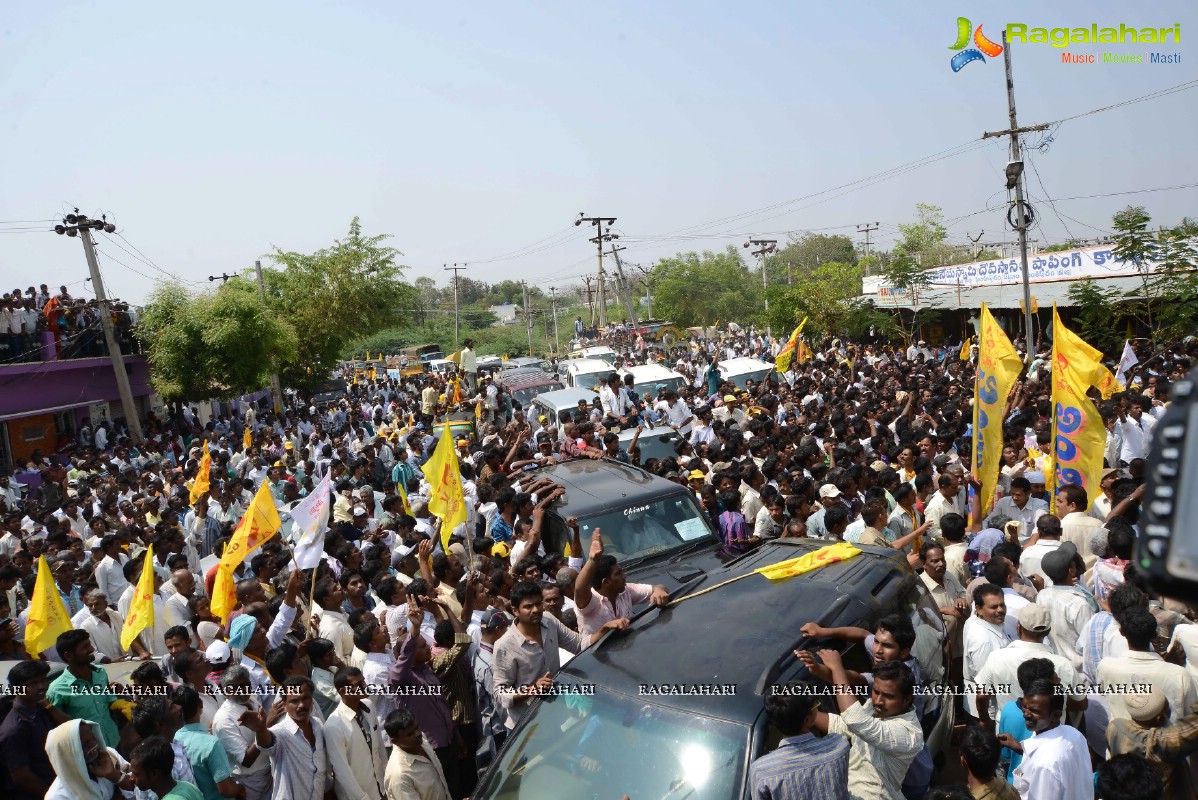
[[[716,320],[748,322],[762,301],[761,274],[748,268],[732,246],[720,253],[661,259],[653,267],[652,286],[653,314],[683,327]]]

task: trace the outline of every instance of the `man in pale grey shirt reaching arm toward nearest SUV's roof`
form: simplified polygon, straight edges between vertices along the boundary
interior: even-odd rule
[[[545,613],[540,584],[521,581],[512,587],[512,610],[516,622],[495,643],[491,671],[495,697],[507,710],[508,729],[528,710],[532,699],[553,687],[553,673],[561,666],[558,648],[577,654],[603,638],[610,630],[624,630],[628,619],[612,619],[585,636]]]

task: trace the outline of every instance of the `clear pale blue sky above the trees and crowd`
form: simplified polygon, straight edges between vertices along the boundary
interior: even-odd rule
[[[207,285],[272,246],[310,250],[353,216],[394,235],[409,279],[446,262],[494,281],[569,285],[594,265],[580,211],[618,217],[628,260],[740,244],[745,234],[881,222],[916,201],[950,219],[1000,205],[1005,144],[842,196],[785,204],[1006,127],[1002,56],[952,73],[966,16],[998,40],[1034,26],[1181,24],[1179,65],[1064,66],[1016,46],[1019,122],[1049,121],[1198,78],[1198,5],[658,0],[416,4],[292,0],[5,2],[0,19],[0,286],[72,284],[78,241],[13,232],[78,205],[107,211],[156,265]],[[1137,46],[1072,51],[1139,53]],[[1034,151],[1072,198],[1198,183],[1198,89],[1067,122]],[[1076,237],[1137,202],[1198,216],[1198,189],[1066,200]],[[709,224],[758,208],[768,212]],[[1039,202],[1040,238],[1066,237]],[[44,224],[44,223],[36,223]],[[1090,228],[1094,226],[1094,228]],[[703,238],[664,238],[685,229]],[[1011,238],[1002,211],[956,241]],[[720,236],[713,236],[719,234]],[[559,235],[559,236],[558,236]],[[555,237],[556,238],[549,238]],[[877,235],[876,235],[877,236]],[[521,257],[490,260],[532,248]],[[876,240],[877,241],[877,240]],[[101,237],[110,293],[157,277]],[[108,257],[111,256],[111,257]],[[121,266],[123,261],[128,267]],[[133,269],[131,269],[132,267]]]

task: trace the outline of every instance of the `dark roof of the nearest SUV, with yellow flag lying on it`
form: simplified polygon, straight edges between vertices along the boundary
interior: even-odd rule
[[[779,539],[712,570],[691,594],[731,577],[827,545]],[[806,644],[804,623],[853,625],[873,618],[914,582],[902,553],[861,547],[861,554],[774,583],[760,575],[736,581],[665,611],[652,610],[628,631],[609,635],[570,660],[563,674],[636,697],[641,684],[736,684],[736,697],[670,695],[662,705],[751,723],[770,685],[805,672],[793,650]],[[679,595],[680,596],[680,595]]]

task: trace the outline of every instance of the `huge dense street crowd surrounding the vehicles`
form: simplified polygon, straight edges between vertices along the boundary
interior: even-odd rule
[[[111,422],[85,425],[63,453],[19,465],[42,473],[36,496],[0,478],[0,654],[19,661],[0,723],[4,795],[470,796],[562,657],[666,600],[627,583],[574,520],[568,552],[544,547],[563,490],[538,468],[607,457],[689,486],[728,553],[847,541],[900,551],[918,572],[914,617],[804,626],[817,643],[797,653],[805,686],[823,693],[764,698],[782,738],[752,764],[752,796],[1192,798],[1196,608],[1154,594],[1131,552],[1152,426],[1198,347],[1143,353],[1130,388],[1101,404],[1101,498],[1047,493],[1036,358],[1010,399],[982,516],[973,360],[834,340],[780,382],[720,374],[720,359],[770,359],[781,344],[752,328],[671,349],[639,338],[615,366],[662,363],[684,386],[645,396],[613,366],[593,402],[556,420],[527,418],[467,341],[458,375],[376,376],[327,407],[292,395],[282,417],[184,408],[146,419],[137,447]],[[422,467],[454,400],[478,435],[455,441],[467,519],[442,550]],[[673,455],[622,447],[617,430],[634,428],[677,431]],[[205,446],[210,490],[192,502]],[[323,556],[300,570],[289,511],[326,475]],[[283,529],[237,566],[237,607],[217,619],[216,560],[264,485]],[[122,647],[151,545],[155,622]],[[73,630],[31,657],[42,557]],[[845,667],[851,646],[871,672]],[[129,685],[110,684],[125,661]]]

